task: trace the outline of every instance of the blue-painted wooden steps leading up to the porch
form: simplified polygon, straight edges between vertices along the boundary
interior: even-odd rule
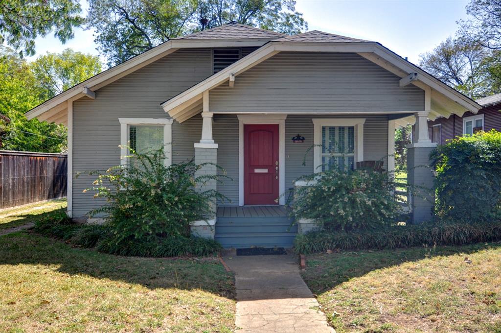
[[[298,232],[293,220],[281,217],[218,217],[215,239],[224,248],[293,246]]]

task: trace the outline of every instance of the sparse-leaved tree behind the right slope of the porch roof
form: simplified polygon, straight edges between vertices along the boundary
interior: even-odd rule
[[[433,51],[420,55],[419,64],[449,86],[479,98],[494,93],[489,68],[498,62],[496,55],[479,44],[449,37]]]

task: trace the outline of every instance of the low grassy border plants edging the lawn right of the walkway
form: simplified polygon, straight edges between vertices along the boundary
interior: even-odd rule
[[[313,231],[296,237],[294,251],[310,254],[329,249],[395,249],[422,245],[465,245],[499,240],[501,240],[501,221],[471,224],[423,223],[394,225],[373,231]]]

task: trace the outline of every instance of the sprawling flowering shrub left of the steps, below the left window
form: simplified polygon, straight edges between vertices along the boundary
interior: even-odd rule
[[[204,252],[193,246],[209,241],[191,241],[189,223],[205,220],[212,213],[213,202],[225,198],[213,190],[198,191],[197,186],[219,182],[223,176],[197,177],[195,173],[203,164],[193,161],[166,167],[162,149],[145,154],[132,152],[129,158],[128,165],[91,173],[98,178],[88,191],[94,191],[96,198],[106,198],[107,203],[89,215],[104,213],[105,226],[110,230],[97,248],[108,253],[148,256],[188,254],[183,253],[185,249],[190,249],[190,253]],[[160,243],[163,248],[158,250]],[[212,243],[218,245],[211,241],[210,251],[218,248]],[[177,244],[180,250],[171,251],[169,244]]]

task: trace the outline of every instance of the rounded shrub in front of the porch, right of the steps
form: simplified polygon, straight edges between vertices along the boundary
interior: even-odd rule
[[[315,186],[298,187],[292,204],[296,219],[314,219],[328,231],[369,230],[389,225],[402,214],[387,173],[368,169],[340,170],[301,180]]]

